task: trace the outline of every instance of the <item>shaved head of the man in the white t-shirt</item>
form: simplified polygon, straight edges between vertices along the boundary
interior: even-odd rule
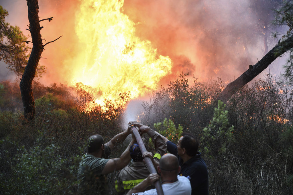
[[[160,159],[160,169],[162,172],[169,172],[177,175],[178,173],[178,158],[173,154],[164,154]]]

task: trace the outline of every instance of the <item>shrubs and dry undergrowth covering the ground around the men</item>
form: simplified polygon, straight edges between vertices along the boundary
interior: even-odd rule
[[[196,82],[198,88],[192,91],[194,86],[190,85],[181,89],[186,84],[181,80],[179,77],[174,82],[172,86],[178,87],[173,91],[171,87],[168,91],[156,91],[158,95],[149,104],[152,108],[147,108],[150,112],[145,112],[142,118],[148,122],[142,123],[155,121],[154,129],[175,143],[183,129],[204,137],[200,149],[209,171],[210,194],[292,194],[292,86],[268,75],[265,80],[256,80],[250,87],[242,88],[225,107],[214,101],[215,94],[223,89],[221,81],[200,85]],[[1,84],[4,86],[1,97],[6,102],[0,110],[1,193],[47,194],[50,185],[52,193],[49,194],[76,194],[76,169],[78,158],[85,152],[86,139],[100,134],[107,142],[123,130],[121,127],[126,125],[122,118],[123,104],[129,100],[128,93],[121,94],[117,102],[106,102],[106,109],[99,106],[84,109],[82,106],[91,102],[93,94],[80,90],[73,96],[66,85],[45,87],[35,82],[38,106],[35,122],[31,123],[25,122],[15,109],[20,98],[18,84],[7,81]],[[173,120],[176,114],[171,105],[188,117]],[[186,126],[179,126],[181,123],[175,121],[184,121]],[[109,158],[117,158],[126,147],[127,143],[123,143]],[[31,173],[35,173],[35,181]],[[115,177],[116,173],[108,174],[110,190],[115,185]],[[44,180],[48,183],[44,184]],[[31,192],[16,191],[23,186]]]

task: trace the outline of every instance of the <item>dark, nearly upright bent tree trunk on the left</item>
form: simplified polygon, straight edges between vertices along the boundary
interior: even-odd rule
[[[24,69],[21,82],[19,83],[21,90],[21,98],[24,108],[24,116],[28,120],[35,117],[35,101],[33,97],[32,82],[41,54],[43,51],[41,27],[39,22],[39,5],[38,0],[27,0],[28,20],[30,23],[29,30],[32,36],[33,48],[28,59],[28,64]]]

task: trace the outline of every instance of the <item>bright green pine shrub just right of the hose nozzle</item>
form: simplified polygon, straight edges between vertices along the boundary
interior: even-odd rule
[[[178,128],[176,129],[174,122],[167,118],[164,119],[163,125],[161,122],[155,123],[154,128],[159,134],[166,137],[168,140],[172,141],[173,143],[177,143],[180,139],[181,133],[183,132],[183,127],[179,124]],[[151,139],[150,139],[151,141]]]

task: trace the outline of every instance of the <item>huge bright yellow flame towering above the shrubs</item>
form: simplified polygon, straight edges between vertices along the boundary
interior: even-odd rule
[[[124,1],[84,0],[76,13],[79,54],[67,60],[72,84],[95,87],[96,102],[131,98],[152,89],[171,71],[172,61],[157,53],[148,40],[135,36],[135,23],[121,12]]]

